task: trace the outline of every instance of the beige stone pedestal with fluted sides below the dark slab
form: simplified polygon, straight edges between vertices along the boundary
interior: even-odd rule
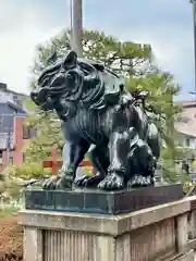
[[[186,249],[187,199],[123,214],[107,208],[108,213],[98,214],[98,208],[95,213],[73,213],[27,207],[19,220],[24,226],[24,261],[193,260]]]

